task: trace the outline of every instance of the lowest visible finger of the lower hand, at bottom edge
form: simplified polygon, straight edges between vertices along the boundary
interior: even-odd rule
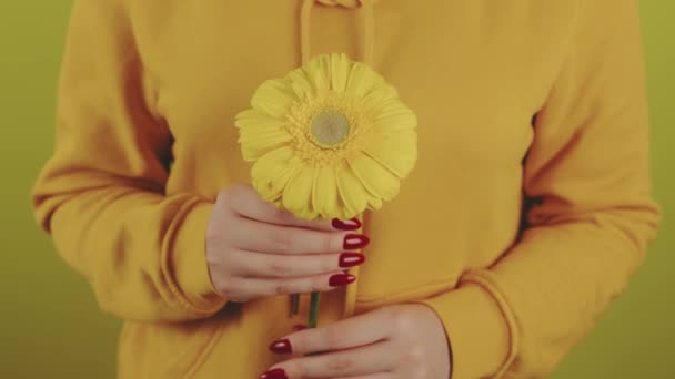
[[[354,349],[290,359],[272,367],[283,369],[289,379],[323,379],[374,375],[393,371],[396,347],[382,341]]]

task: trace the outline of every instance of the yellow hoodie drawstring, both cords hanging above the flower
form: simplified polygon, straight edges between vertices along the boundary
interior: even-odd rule
[[[330,7],[344,7],[356,9],[359,4],[363,8],[363,45],[361,61],[367,65],[373,63],[373,50],[375,38],[375,19],[373,17],[373,0],[304,0],[300,14],[300,51],[302,54],[302,64],[305,64],[312,58],[310,42],[310,19],[312,17],[312,7],[314,3],[322,3]]]

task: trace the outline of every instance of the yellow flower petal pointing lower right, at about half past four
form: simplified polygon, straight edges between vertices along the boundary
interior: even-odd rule
[[[372,195],[389,202],[399,194],[399,178],[370,156],[359,154],[350,158],[349,164]]]

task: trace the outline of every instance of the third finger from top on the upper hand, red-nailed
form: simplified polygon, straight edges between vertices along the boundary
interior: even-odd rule
[[[365,262],[359,253],[279,255],[236,250],[232,273],[252,278],[299,278],[336,273]]]

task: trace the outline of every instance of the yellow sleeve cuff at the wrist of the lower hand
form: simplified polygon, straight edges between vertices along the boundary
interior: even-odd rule
[[[462,279],[450,293],[420,300],[445,327],[452,350],[452,379],[501,377],[515,358],[515,322],[481,277]]]

